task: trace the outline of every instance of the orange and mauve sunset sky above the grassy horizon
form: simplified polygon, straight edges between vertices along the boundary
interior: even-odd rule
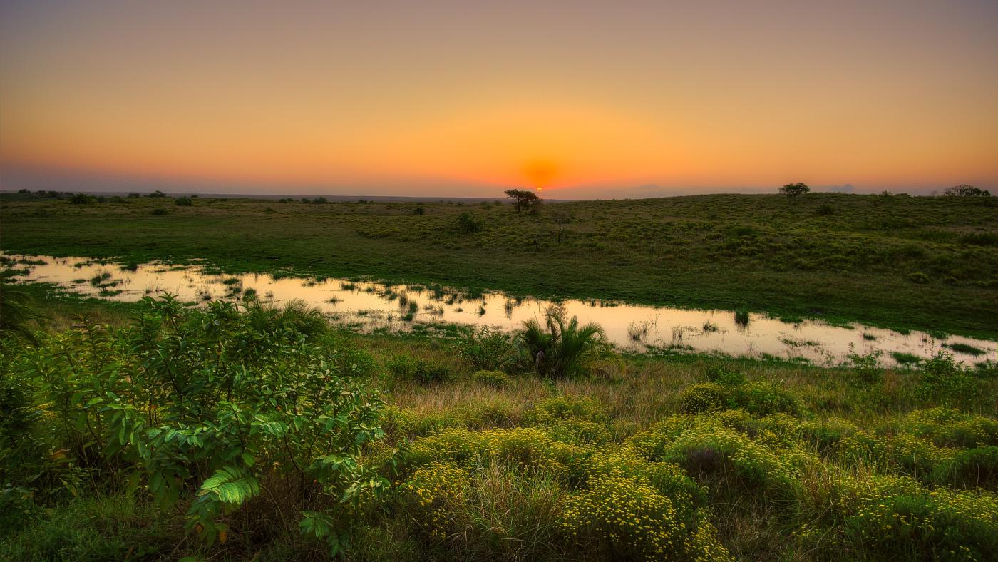
[[[998,189],[998,2],[0,0],[0,189]]]

